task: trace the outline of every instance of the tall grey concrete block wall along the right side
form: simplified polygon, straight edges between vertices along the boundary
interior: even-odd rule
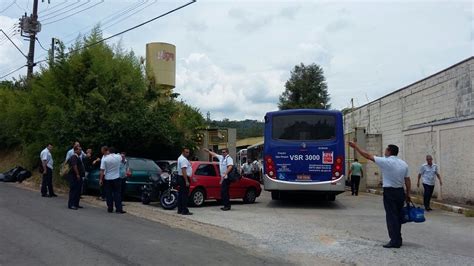
[[[425,155],[432,154],[445,178],[441,195],[474,202],[474,140],[467,137],[474,136],[470,124],[474,121],[473,88],[471,57],[346,114],[345,131],[362,127],[368,135],[380,134],[382,147],[398,145],[400,156],[410,165],[413,181]],[[458,168],[460,162],[465,164]],[[377,173],[367,170],[369,186],[377,179],[372,172]]]

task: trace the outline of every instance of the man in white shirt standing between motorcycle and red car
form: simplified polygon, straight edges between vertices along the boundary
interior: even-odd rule
[[[183,148],[181,155],[178,158],[178,214],[192,215],[188,209],[188,195],[191,175],[193,174],[193,168],[191,162],[188,160],[189,149]]]

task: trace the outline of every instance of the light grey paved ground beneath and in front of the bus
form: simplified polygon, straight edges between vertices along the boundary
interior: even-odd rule
[[[372,194],[318,202],[272,201],[263,192],[256,204],[236,201],[230,212],[215,203],[192,211],[189,219],[232,229],[249,248],[298,264],[326,258],[361,265],[474,265],[474,218],[442,210],[428,213],[425,223],[404,225],[401,249],[382,248],[388,241],[385,213],[382,197]]]

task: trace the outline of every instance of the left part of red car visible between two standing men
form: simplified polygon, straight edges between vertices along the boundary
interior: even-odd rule
[[[207,199],[220,198],[220,177],[217,175],[216,167],[213,163],[193,162],[197,164],[194,168],[193,187],[203,187]]]

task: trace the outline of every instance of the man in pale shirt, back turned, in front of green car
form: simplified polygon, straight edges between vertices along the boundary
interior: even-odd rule
[[[116,213],[126,213],[122,208],[120,164],[122,156],[120,154],[110,153],[107,146],[103,146],[102,160],[100,162],[100,185],[104,185],[105,197],[107,201],[107,211]]]

